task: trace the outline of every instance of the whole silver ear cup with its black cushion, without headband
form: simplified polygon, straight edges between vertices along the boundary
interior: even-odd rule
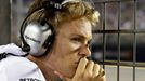
[[[54,41],[54,29],[43,18],[25,24],[25,29],[21,31],[21,33],[23,43],[22,50],[34,56],[44,54]]]

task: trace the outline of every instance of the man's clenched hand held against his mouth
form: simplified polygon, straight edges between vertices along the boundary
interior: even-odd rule
[[[98,64],[81,58],[72,79],[66,81],[106,81],[105,72]]]

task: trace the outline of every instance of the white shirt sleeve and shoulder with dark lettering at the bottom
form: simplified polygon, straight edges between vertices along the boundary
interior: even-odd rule
[[[38,66],[26,57],[9,56],[0,63],[1,81],[45,81]]]

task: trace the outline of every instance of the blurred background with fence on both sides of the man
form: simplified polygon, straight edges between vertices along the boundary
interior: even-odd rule
[[[34,0],[0,0],[0,45],[19,44],[19,27]],[[93,0],[100,24],[93,29],[92,59],[108,81],[144,81],[145,0]]]

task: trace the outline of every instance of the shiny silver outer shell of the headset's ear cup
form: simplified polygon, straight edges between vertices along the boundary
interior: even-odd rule
[[[24,40],[30,48],[29,54],[34,56],[43,55],[48,50],[43,44],[52,36],[52,28],[50,28],[48,23],[43,25],[38,22],[27,24],[24,31]]]

